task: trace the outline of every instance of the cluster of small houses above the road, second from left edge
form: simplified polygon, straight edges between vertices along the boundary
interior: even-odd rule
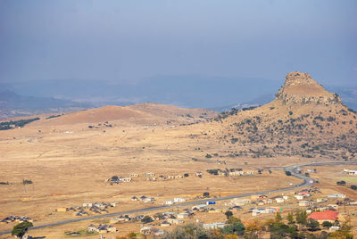
[[[91,214],[104,214],[108,213],[108,208],[116,207],[119,202],[84,202],[82,206],[71,207],[71,208],[58,208],[56,211],[64,212],[71,211],[73,216],[88,216]]]

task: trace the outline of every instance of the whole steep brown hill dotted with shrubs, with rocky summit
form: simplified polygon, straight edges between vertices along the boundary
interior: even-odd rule
[[[309,74],[292,72],[273,102],[249,111],[228,111],[212,122],[217,139],[236,156],[301,155],[353,159],[357,115]]]

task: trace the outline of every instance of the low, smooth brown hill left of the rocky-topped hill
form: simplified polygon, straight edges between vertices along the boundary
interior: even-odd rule
[[[176,106],[141,103],[129,106],[104,106],[87,111],[75,111],[48,118],[48,114],[40,115],[40,120],[32,122],[29,126],[62,126],[76,124],[96,124],[106,121],[116,122],[120,125],[145,125],[145,124],[191,124],[206,121],[217,116],[214,111],[203,109],[185,109]]]

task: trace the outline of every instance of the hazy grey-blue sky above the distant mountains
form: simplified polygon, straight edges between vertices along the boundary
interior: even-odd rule
[[[357,1],[0,0],[0,82],[162,75],[357,81]]]

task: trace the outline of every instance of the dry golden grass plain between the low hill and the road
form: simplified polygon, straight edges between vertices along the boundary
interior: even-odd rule
[[[303,161],[301,159],[262,160],[214,155],[206,158],[207,153],[231,150],[231,146],[214,144],[206,136],[192,138],[189,135],[194,132],[188,128],[113,127],[105,128],[103,132],[78,124],[29,126],[3,131],[0,138],[0,182],[9,182],[10,185],[0,185],[0,192],[4,195],[0,200],[0,218],[25,215],[34,218],[35,225],[41,225],[73,218],[69,212],[55,210],[80,206],[83,202],[119,202],[117,207],[109,210],[115,212],[147,207],[143,202],[131,202],[134,195],[152,196],[154,204],[160,205],[174,196],[192,200],[209,192],[220,197],[300,182],[294,177],[281,180],[286,178],[281,169],[272,169],[271,174],[267,170],[258,174],[257,169],[293,164]],[[190,133],[183,137],[182,130],[186,129]],[[206,169],[226,168],[241,168],[253,171],[254,175],[223,177],[206,172]],[[197,171],[203,172],[203,178],[195,177]],[[166,177],[188,173],[189,177],[148,181],[142,177],[146,172]],[[105,182],[113,175],[129,177],[130,173],[137,173],[140,177],[133,177],[132,182],[120,185]],[[33,184],[23,185],[23,179],[29,179]],[[12,226],[0,225],[0,230]]]

